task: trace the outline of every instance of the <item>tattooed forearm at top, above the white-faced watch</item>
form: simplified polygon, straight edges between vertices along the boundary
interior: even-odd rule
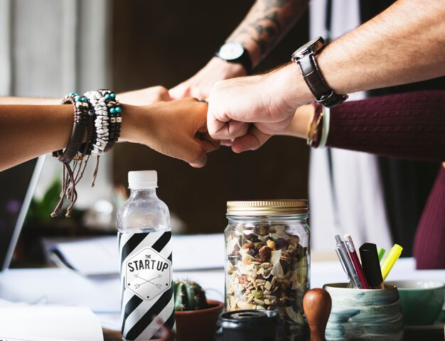
[[[306,11],[307,0],[257,0],[227,38],[242,43],[255,66],[279,43]]]

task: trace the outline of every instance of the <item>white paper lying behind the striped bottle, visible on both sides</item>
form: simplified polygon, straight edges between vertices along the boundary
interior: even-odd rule
[[[175,235],[171,239],[173,271],[223,269],[224,235],[191,234]],[[62,255],[58,264],[75,269],[86,276],[119,274],[117,237],[98,237],[77,242],[57,243]]]

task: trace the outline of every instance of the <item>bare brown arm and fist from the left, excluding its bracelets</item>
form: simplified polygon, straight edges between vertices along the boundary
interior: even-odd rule
[[[119,141],[145,144],[195,167],[218,148],[207,133],[207,104],[196,99],[121,107]],[[72,105],[0,105],[0,171],[65,148],[72,130]]]

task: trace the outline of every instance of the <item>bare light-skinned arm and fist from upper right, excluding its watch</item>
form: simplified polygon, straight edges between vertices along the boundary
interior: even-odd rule
[[[399,0],[328,45],[317,57],[318,67],[341,94],[440,77],[445,75],[444,18],[443,0]],[[313,99],[294,63],[264,75],[225,80],[210,94],[209,132],[233,139],[254,123],[247,139],[257,131],[279,134],[295,109]]]

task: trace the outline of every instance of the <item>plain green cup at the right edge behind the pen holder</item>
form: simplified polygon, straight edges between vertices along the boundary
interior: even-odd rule
[[[432,325],[444,306],[445,284],[441,281],[390,281],[397,286],[405,325]]]

